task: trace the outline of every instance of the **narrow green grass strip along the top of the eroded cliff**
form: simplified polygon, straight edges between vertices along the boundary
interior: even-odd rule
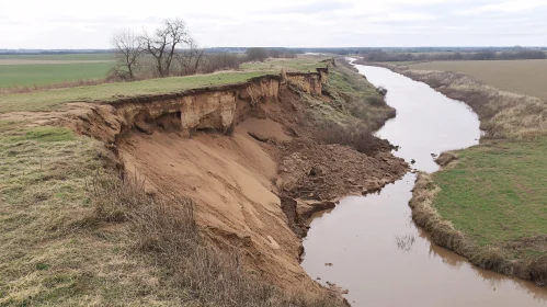
[[[52,111],[68,102],[114,102],[119,98],[168,94],[187,89],[246,82],[273,71],[225,72],[190,77],[171,77],[136,82],[104,83],[90,87],[43,90],[3,95],[0,113],[12,111]]]

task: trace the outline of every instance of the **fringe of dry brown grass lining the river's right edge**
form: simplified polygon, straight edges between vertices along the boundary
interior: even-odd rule
[[[449,88],[451,83],[446,83],[446,81],[467,78],[475,82],[474,90],[476,92],[487,92],[495,88],[479,83],[474,78],[457,72],[419,71],[411,70],[407,66],[395,66],[381,62],[357,61],[356,64],[387,68],[414,81],[424,82],[435,91],[441,92],[451,99],[463,101],[464,103],[469,105],[474,110],[474,112],[478,114],[479,121],[481,123],[481,129],[485,130],[485,137],[481,138],[480,144],[477,146],[486,146],[490,143],[491,139],[495,139],[497,141],[506,141],[505,137],[508,133],[503,130],[504,127],[502,126],[501,128],[499,128],[495,125],[497,123],[492,123],[492,118],[497,113],[488,114],[487,111],[491,112],[491,110],[485,110],[478,104],[474,104],[471,101],[466,99],[468,96],[468,92],[457,87]],[[428,72],[430,72],[430,75],[437,76],[442,73],[445,76],[445,78],[442,78],[441,80],[438,78],[433,78],[432,76],[429,76],[430,78],[428,78]],[[501,92],[500,90],[498,91]],[[481,95],[481,98],[486,99],[488,103],[492,103],[494,102],[497,95],[483,94]],[[498,110],[498,113],[501,111],[503,111],[503,109]],[[502,132],[502,136],[500,136],[500,130]],[[445,160],[443,157],[447,157],[449,155],[454,154],[452,151],[446,151],[440,156],[440,159],[437,159],[437,163],[441,164],[442,169],[440,169],[438,171],[443,171],[444,169],[449,168],[453,163],[457,163],[457,158],[449,158],[447,159],[448,161],[443,161]],[[455,229],[452,223],[443,218],[434,208],[433,202],[438,192],[441,192],[441,187],[435,184],[431,174],[426,172],[419,172],[414,189],[412,190],[412,198],[409,202],[409,206],[412,211],[412,219],[417,225],[423,227],[428,232],[430,232],[433,242],[468,259],[470,263],[481,269],[490,270],[508,276],[518,277],[521,280],[532,281],[539,286],[547,286],[546,257],[539,257],[536,259],[511,260],[503,253],[502,249],[499,247],[478,246],[463,231]]]

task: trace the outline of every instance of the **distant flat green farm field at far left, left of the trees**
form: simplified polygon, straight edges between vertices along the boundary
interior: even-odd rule
[[[113,65],[110,54],[0,55],[0,89],[103,79]]]

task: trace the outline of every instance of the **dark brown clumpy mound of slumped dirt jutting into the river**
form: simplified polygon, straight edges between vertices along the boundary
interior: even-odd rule
[[[282,148],[277,185],[293,198],[332,202],[379,191],[404,173],[407,163],[389,150],[367,156],[340,145],[295,140]]]

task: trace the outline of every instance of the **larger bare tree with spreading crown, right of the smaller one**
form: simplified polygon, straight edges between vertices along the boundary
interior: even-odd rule
[[[159,77],[167,77],[171,69],[176,46],[187,44],[190,34],[186,31],[186,24],[180,19],[174,19],[166,20],[152,36],[145,32],[140,39],[146,52],[156,60]]]

